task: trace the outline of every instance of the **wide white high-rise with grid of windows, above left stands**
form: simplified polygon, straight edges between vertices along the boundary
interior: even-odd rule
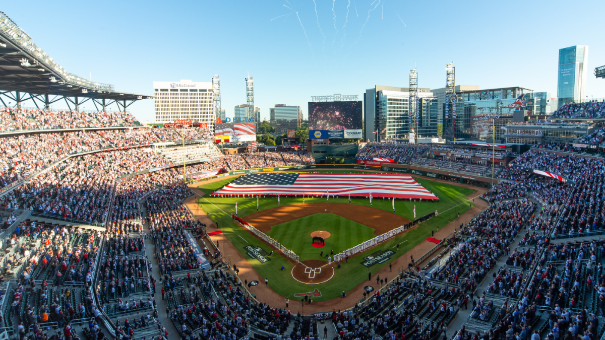
[[[211,82],[153,82],[155,121],[171,123],[175,119],[191,119],[208,123],[214,131],[214,96]]]

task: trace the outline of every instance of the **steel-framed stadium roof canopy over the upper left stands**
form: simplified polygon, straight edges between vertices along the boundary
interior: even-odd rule
[[[91,82],[68,73],[52,57],[33,44],[31,37],[0,11],[0,94],[8,92],[18,93],[14,98],[17,102],[32,99],[35,103],[37,99],[42,102],[45,100],[47,105],[48,95],[61,97],[54,101],[65,97],[85,97],[103,106],[105,100],[128,106],[130,104],[126,105],[126,101],[153,98],[119,92],[114,90],[113,85]],[[20,97],[20,93],[28,93],[30,97]],[[77,106],[77,99],[75,102],[66,100]]]

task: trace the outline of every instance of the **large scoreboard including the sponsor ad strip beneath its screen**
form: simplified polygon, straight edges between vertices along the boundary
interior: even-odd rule
[[[309,138],[361,138],[361,100],[352,102],[310,102]],[[322,137],[316,137],[316,136]]]

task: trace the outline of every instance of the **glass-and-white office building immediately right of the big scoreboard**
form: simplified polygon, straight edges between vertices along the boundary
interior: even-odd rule
[[[419,122],[416,137],[437,137],[437,98],[418,88]],[[407,139],[410,134],[409,88],[376,85],[364,93],[364,139]],[[374,134],[373,132],[378,132]]]

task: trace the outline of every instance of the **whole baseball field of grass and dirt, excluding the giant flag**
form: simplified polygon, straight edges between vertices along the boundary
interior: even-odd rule
[[[368,273],[378,272],[388,266],[430,237],[431,230],[437,231],[437,226],[445,226],[450,219],[454,220],[459,213],[463,214],[469,210],[466,196],[473,194],[474,189],[424,178],[415,179],[424,188],[436,194],[440,198],[439,202],[397,200],[393,212],[391,201],[382,198],[374,198],[373,207],[370,208],[367,198],[352,198],[349,203],[347,197],[330,197],[329,201],[326,201],[325,197],[306,197],[303,203],[300,197],[281,197],[278,204],[277,198],[261,197],[257,212],[256,198],[210,197],[212,192],[235,180],[229,178],[198,186],[204,192],[204,197],[198,198],[197,203],[213,221],[218,221],[223,235],[246,258],[250,266],[261,277],[269,280],[273,291],[281,296],[296,299],[295,294],[318,289],[321,296],[315,296],[313,300],[325,301],[339,297],[341,292],[348,292],[367,281]],[[302,264],[297,266],[295,261],[283,257],[269,244],[235,223],[231,218],[231,214],[235,212],[235,203],[239,217],[293,250],[299,255]],[[439,214],[414,229],[348,258],[340,267],[327,266],[329,260],[326,255],[331,252],[341,252],[414,220],[414,205],[417,218],[436,210]],[[318,232],[322,234],[317,234]],[[325,238],[325,246],[313,246],[312,235],[329,237]],[[272,250],[274,252],[271,254]],[[323,256],[320,257],[321,252]],[[223,255],[229,258],[228,253]],[[368,263],[368,259],[379,255],[382,255],[381,261]],[[321,272],[318,267],[321,267]],[[395,270],[400,269],[393,267],[393,271]],[[295,278],[297,275],[298,278]],[[309,280],[300,280],[300,275],[308,276]]]

